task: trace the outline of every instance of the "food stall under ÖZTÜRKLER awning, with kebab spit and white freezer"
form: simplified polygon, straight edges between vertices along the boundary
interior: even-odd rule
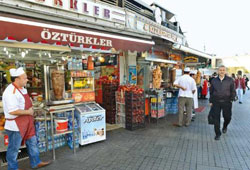
[[[103,67],[100,66],[102,65],[100,58],[107,56],[107,53],[91,54],[93,58],[85,63],[84,60],[88,60],[90,53],[71,51],[62,55],[61,51],[6,47],[0,47],[1,50],[2,54],[6,54],[5,51],[12,54],[8,59],[4,57],[0,59],[0,69],[4,74],[1,83],[4,87],[10,83],[10,68],[23,66],[28,75],[27,90],[35,109],[36,136],[40,152],[53,150],[55,159],[56,148],[68,145],[75,152],[79,144],[106,139],[105,109],[95,103],[95,76],[98,75],[96,73],[98,67]],[[100,76],[101,74],[98,78]],[[97,118],[101,123],[94,123],[97,122]],[[91,120],[92,123],[88,122]],[[1,111],[0,140],[3,139],[0,143],[1,153],[7,150],[8,145],[4,123],[5,118]],[[95,127],[93,133],[90,135],[88,132],[86,135],[85,128],[92,127]],[[89,140],[90,137],[95,139]]]

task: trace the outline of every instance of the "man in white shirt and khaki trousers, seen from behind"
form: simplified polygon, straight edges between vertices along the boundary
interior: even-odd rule
[[[184,75],[174,82],[174,86],[180,89],[178,98],[178,123],[174,123],[174,126],[178,127],[183,126],[183,122],[185,126],[189,126],[191,122],[193,95],[197,91],[197,88],[194,79],[190,77],[189,73],[190,68],[185,68]],[[186,108],[186,115],[184,115],[184,108]]]

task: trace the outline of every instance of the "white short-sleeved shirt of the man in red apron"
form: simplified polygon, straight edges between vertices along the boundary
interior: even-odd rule
[[[23,94],[27,94],[27,90],[25,88],[19,90]],[[8,87],[4,90],[2,100],[4,115],[6,119],[15,119],[17,117],[9,114],[10,112],[14,112],[16,110],[24,110],[24,97],[12,84],[8,85]],[[19,131],[15,120],[6,120],[4,128],[11,131]]]

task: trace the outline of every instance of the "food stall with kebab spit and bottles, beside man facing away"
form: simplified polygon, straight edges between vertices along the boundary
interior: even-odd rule
[[[173,87],[182,76],[181,55],[149,51],[137,58],[138,85],[145,90],[145,114],[149,120],[178,112],[178,89]]]

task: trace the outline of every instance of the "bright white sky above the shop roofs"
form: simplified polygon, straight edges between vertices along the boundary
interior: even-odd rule
[[[250,0],[155,1],[176,15],[190,47],[219,57],[250,54]]]

